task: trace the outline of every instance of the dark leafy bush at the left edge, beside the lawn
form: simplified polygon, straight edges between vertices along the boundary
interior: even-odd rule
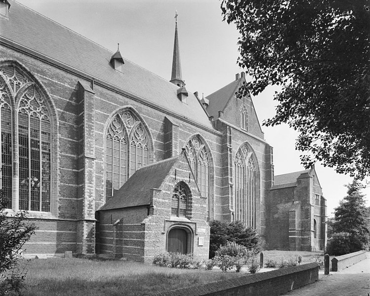
[[[21,248],[37,227],[27,221],[25,211],[9,217],[5,211],[8,199],[0,189],[0,295],[19,292],[23,286],[25,269],[20,268]]]

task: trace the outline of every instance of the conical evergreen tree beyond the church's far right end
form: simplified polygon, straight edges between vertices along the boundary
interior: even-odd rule
[[[369,245],[369,228],[367,224],[367,208],[362,185],[358,181],[346,185],[347,196],[335,208],[333,233],[348,233],[350,241],[349,253],[364,250]],[[334,238],[333,234],[333,238]],[[340,237],[344,239],[345,235]],[[343,239],[342,239],[343,238]],[[338,254],[335,254],[338,255]]]

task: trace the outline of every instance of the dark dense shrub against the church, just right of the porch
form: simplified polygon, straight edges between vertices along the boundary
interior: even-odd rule
[[[209,258],[215,257],[216,251],[228,242],[244,246],[247,250],[260,250],[257,230],[244,226],[240,221],[226,223],[214,220],[210,222],[210,227]]]

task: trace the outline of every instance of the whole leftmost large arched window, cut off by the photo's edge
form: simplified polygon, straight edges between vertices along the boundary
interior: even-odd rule
[[[15,67],[0,69],[1,172],[0,186],[7,193],[8,207],[15,210],[50,212],[51,120],[45,98],[33,81]],[[6,88],[6,82],[10,91]],[[27,85],[26,85],[27,84]],[[26,85],[26,86],[25,86]],[[22,86],[22,93],[19,93]],[[10,101],[17,102],[18,126],[12,121]],[[12,134],[18,137],[18,153],[12,155]],[[12,162],[18,156],[19,187],[12,196]],[[13,198],[18,200],[13,201]]]

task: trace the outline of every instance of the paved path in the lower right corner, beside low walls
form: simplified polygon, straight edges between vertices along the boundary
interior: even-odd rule
[[[348,268],[324,275],[319,270],[319,280],[313,284],[284,294],[286,296],[369,296],[370,252],[367,258]]]

